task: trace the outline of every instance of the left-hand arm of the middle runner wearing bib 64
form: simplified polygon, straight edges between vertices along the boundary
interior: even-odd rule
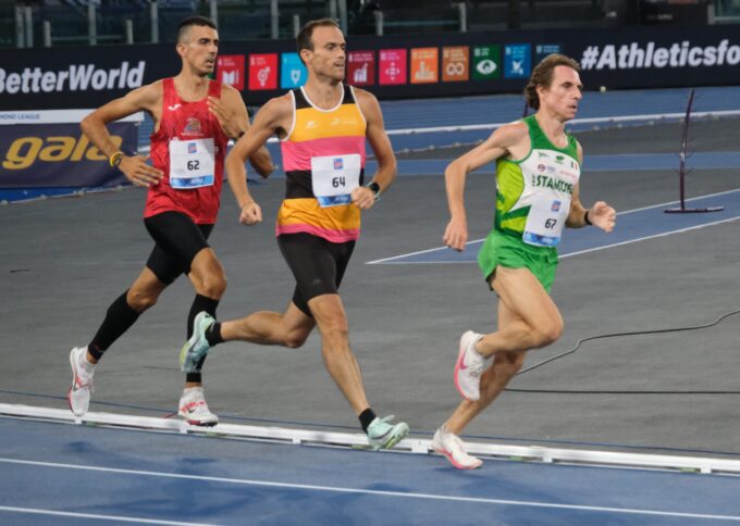
[[[226,155],[229,186],[239,205],[239,221],[247,225],[262,221],[262,211],[247,188],[247,170],[244,163],[264,146],[270,136],[280,129],[289,127],[286,122],[292,116],[293,102],[287,97],[289,96],[278,97],[264,104],[257,112],[255,122],[247,129],[247,133],[236,141],[234,148]]]

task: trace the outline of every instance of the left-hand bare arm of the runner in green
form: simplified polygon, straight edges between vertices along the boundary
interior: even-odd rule
[[[449,223],[443,240],[458,251],[465,250],[468,241],[468,220],[465,212],[465,179],[470,172],[484,164],[511,153],[511,148],[529,141],[529,130],[525,123],[506,124],[496,129],[481,145],[457,158],[444,171]],[[529,142],[528,142],[529,147]]]

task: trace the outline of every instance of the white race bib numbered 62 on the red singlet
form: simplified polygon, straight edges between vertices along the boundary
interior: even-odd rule
[[[170,186],[189,190],[212,186],[215,180],[213,139],[170,141]]]

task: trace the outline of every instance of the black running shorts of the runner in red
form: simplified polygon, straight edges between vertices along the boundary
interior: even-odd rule
[[[157,243],[149,254],[147,267],[166,285],[190,272],[190,263],[198,252],[208,248],[208,236],[213,229],[213,225],[196,225],[180,212],[146,217],[144,226]]]

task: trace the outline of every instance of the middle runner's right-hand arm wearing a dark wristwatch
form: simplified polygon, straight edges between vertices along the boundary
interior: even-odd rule
[[[385,133],[383,112],[375,96],[363,89],[355,89],[355,97],[367,123],[366,137],[378,161],[378,172],[370,183],[377,183],[382,193],[396,179],[396,154],[393,153],[391,139]],[[369,188],[359,187],[353,190],[351,201],[360,209],[368,210],[375,203],[375,196]]]

